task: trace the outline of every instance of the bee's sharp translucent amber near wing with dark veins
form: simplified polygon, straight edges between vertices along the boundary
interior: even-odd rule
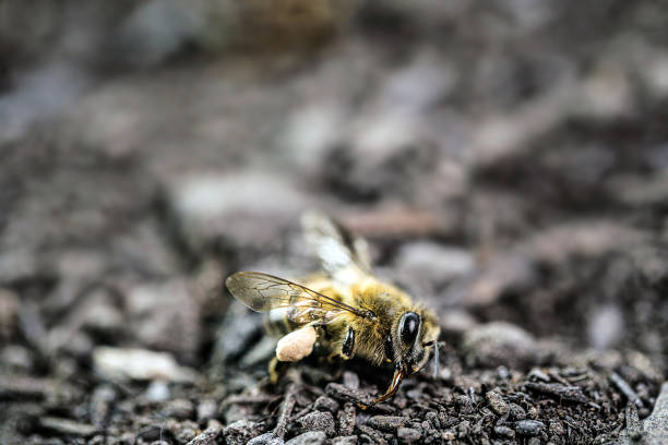
[[[374,316],[369,311],[353,308],[296,282],[259,272],[238,272],[230,275],[225,285],[237,300],[257,312],[295,308],[295,317],[309,314],[320,321],[330,321],[343,312],[361,317]]]

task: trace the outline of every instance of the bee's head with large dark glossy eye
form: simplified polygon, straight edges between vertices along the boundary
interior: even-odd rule
[[[402,314],[387,337],[387,341],[392,342],[387,345],[387,357],[399,365],[406,375],[418,372],[427,364],[429,348],[436,345],[439,336],[433,316],[420,312],[422,311]]]

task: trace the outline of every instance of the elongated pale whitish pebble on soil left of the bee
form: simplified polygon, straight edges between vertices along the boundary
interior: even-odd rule
[[[180,366],[170,353],[146,349],[99,346],[93,350],[93,365],[111,381],[192,382],[195,378],[194,371]]]

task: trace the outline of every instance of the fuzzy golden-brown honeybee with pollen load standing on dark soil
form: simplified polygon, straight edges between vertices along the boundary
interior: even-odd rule
[[[421,370],[433,350],[438,374],[440,328],[433,312],[397,287],[375,277],[367,242],[320,213],[302,217],[306,239],[322,273],[298,284],[259,272],[238,272],[225,284],[253,311],[266,312],[267,332],[283,336],[270,364],[272,383],[279,361],[298,361],[313,346],[330,359],[359,357],[375,366],[394,365],[386,392],[366,409],[393,397],[404,377]]]

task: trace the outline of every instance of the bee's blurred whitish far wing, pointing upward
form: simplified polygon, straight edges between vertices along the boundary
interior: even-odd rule
[[[363,238],[319,212],[307,212],[301,218],[307,242],[315,251],[322,268],[334,279],[353,284],[372,275],[369,245]]]

